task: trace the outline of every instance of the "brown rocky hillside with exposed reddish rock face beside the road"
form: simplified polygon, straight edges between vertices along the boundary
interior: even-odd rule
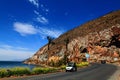
[[[65,39],[69,43],[65,44]],[[109,63],[120,59],[120,11],[107,14],[99,19],[81,25],[42,47],[28,64],[45,64],[57,61],[67,55],[68,61],[80,62],[89,53],[92,62],[106,59]]]

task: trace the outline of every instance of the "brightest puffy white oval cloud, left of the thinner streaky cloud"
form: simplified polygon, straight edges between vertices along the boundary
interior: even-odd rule
[[[22,36],[37,33],[37,29],[35,29],[34,26],[30,24],[15,22],[13,26],[14,30],[20,33]]]

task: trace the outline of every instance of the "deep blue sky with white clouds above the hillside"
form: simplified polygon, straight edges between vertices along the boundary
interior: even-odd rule
[[[120,0],[0,0],[0,60],[24,60],[59,35],[120,9]]]

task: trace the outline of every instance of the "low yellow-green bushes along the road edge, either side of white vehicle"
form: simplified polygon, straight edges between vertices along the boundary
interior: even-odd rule
[[[81,62],[77,64],[77,67],[88,66],[88,62]],[[56,72],[57,70],[64,70],[66,65],[62,65],[60,68],[41,68],[35,67],[32,70],[26,67],[14,67],[10,69],[0,69],[0,78],[10,77],[10,76],[22,76],[29,74],[46,74],[50,72]]]

